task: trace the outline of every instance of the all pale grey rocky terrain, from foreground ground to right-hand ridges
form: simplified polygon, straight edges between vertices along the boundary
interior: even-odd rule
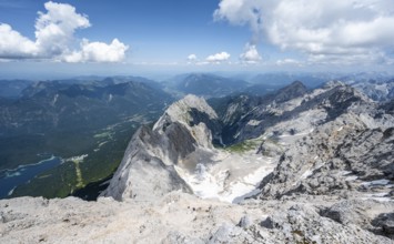
[[[394,243],[391,103],[291,88],[221,116],[186,96],[135,133],[98,202],[0,201],[0,243]]]

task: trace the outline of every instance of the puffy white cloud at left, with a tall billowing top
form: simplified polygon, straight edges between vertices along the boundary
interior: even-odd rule
[[[32,41],[9,24],[0,24],[1,59],[51,59],[65,62],[119,62],[124,59],[128,45],[114,39],[112,43],[89,42],[83,39],[80,50],[73,50],[74,32],[91,24],[84,14],[65,3],[49,1],[47,12],[38,12],[36,40]]]

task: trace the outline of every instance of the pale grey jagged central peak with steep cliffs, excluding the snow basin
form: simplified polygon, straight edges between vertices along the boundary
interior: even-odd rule
[[[153,129],[142,126],[131,140],[103,196],[154,201],[181,190],[192,193],[174,166],[201,149],[212,149],[215,112],[203,99],[188,95],[172,104]]]

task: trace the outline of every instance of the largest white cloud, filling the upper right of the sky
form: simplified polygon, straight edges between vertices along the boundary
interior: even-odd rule
[[[392,0],[221,0],[214,18],[249,26],[254,40],[301,51],[310,60],[355,55],[365,61],[371,50],[392,48],[393,12]]]

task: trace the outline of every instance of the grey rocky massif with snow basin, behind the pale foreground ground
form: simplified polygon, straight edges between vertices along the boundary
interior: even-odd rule
[[[234,100],[222,114],[219,118],[194,95],[173,103],[153,129],[142,128],[134,135],[102,195],[149,201],[181,190],[235,203],[260,192],[264,199],[347,191],[357,187],[345,181],[353,171],[378,177],[391,169],[384,162],[393,156],[392,115],[342,82],[313,91],[294,82],[260,102],[245,96]],[[212,141],[222,142],[229,124],[238,131],[233,144],[213,146]],[[362,152],[375,144],[384,159],[365,159],[368,154]],[[356,146],[362,149],[354,153]],[[370,169],[376,164],[372,161],[382,159],[380,170]]]

